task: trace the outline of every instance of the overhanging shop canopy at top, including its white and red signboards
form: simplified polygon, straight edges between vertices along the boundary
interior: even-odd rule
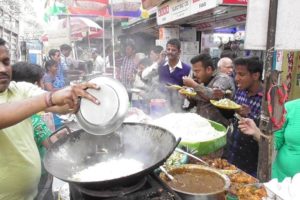
[[[158,7],[158,25],[189,24],[198,29],[213,29],[227,22],[245,23],[247,0],[168,1]]]

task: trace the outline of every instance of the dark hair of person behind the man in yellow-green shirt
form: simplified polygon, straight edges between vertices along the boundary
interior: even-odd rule
[[[12,80],[16,82],[26,81],[29,83],[39,82],[44,75],[40,65],[27,62],[17,62],[12,65]]]

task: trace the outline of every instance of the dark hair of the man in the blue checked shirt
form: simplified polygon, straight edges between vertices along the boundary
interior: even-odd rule
[[[234,65],[246,66],[247,70],[253,73],[259,73],[259,79],[262,80],[263,62],[258,57],[237,58],[234,60]]]

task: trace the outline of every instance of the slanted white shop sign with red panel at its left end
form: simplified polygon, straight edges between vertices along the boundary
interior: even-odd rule
[[[217,7],[218,0],[172,0],[157,9],[157,24],[162,25]]]

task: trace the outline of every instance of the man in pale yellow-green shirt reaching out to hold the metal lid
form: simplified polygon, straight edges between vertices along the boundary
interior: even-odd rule
[[[12,68],[5,41],[0,38],[0,200],[32,200],[40,179],[40,156],[33,138],[30,116],[42,110],[68,113],[79,107],[78,97],[100,102],[82,83],[56,92],[11,81]]]

